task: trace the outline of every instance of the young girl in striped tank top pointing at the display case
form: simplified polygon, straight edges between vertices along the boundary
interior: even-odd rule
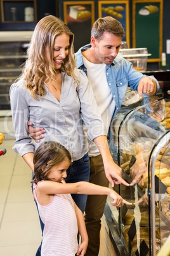
[[[67,169],[71,164],[69,151],[56,141],[45,141],[34,154],[34,197],[39,215],[44,223],[41,255],[84,255],[88,246],[88,234],[82,211],[70,194],[108,195],[112,205],[131,204],[114,190],[86,181],[65,183]],[[78,246],[77,233],[82,243]]]

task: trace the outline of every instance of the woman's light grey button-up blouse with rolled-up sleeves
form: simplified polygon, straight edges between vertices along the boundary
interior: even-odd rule
[[[82,120],[88,128],[88,138],[93,141],[100,135],[107,135],[98,106],[85,73],[75,69],[79,83],[72,85],[71,76],[62,72],[60,102],[46,87],[46,95],[34,99],[25,80],[20,79],[10,87],[11,112],[15,129],[13,150],[20,155],[32,152],[43,141],[58,141],[71,153],[72,160],[78,160],[88,152],[88,141],[82,129]],[[82,120],[81,120],[82,118]],[[35,145],[28,134],[28,120],[34,127],[44,127],[44,139]]]

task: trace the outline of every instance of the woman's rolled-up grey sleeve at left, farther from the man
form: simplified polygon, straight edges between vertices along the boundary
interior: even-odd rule
[[[10,87],[11,113],[15,131],[15,146],[13,150],[21,156],[34,153],[34,144],[28,134],[29,106],[25,99],[25,89],[20,83],[13,83]]]

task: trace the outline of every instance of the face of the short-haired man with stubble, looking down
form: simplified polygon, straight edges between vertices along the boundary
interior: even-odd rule
[[[95,48],[96,64],[112,64],[121,46],[121,36],[115,36],[110,32],[104,32],[100,41],[94,36],[91,37],[91,45]]]

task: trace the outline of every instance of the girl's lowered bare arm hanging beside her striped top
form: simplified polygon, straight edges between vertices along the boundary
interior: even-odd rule
[[[82,214],[82,211],[77,207],[75,203],[74,203],[74,208],[75,208],[75,215],[77,217],[78,231],[82,239],[81,245],[79,246],[79,250],[77,250],[76,254],[83,256],[86,253],[86,250],[88,248],[88,241],[89,241],[88,233],[86,231],[86,225],[84,222],[84,216]]]

